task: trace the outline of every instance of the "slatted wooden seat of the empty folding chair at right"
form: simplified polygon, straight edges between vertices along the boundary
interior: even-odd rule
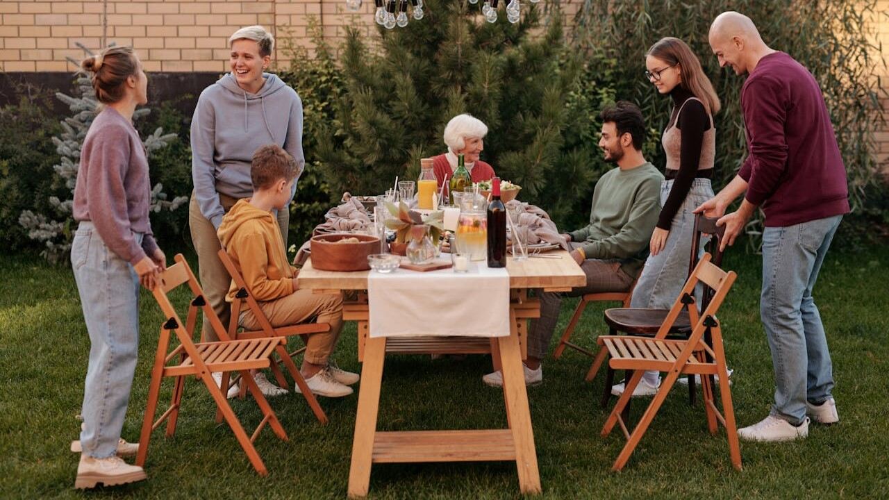
[[[684,340],[652,339],[630,335],[601,335],[597,342],[604,345],[611,359],[610,367],[627,370],[668,371],[675,364],[688,343]],[[698,346],[695,351],[701,351]],[[716,363],[697,359],[694,354],[685,361],[684,374],[716,374]]]

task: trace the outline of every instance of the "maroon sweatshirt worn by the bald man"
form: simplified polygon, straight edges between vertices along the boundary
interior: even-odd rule
[[[741,89],[749,156],[738,175],[765,225],[849,213],[845,166],[818,82],[784,52],[759,60]]]

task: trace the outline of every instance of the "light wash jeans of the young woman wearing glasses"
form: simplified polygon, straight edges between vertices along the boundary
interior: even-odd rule
[[[661,206],[667,203],[673,180],[661,182]],[[633,288],[630,307],[669,309],[676,301],[685,281],[688,279],[688,264],[692,256],[694,238],[695,208],[713,198],[713,188],[709,179],[695,179],[685,201],[673,216],[669,235],[663,249],[657,255],[648,255],[642,274]],[[701,254],[709,238],[701,238]],[[700,297],[700,294],[699,294]],[[660,373],[656,370],[645,372],[645,382],[657,385]]]

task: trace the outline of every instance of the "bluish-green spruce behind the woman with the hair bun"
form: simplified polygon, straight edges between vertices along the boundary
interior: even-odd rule
[[[84,52],[92,55],[83,46]],[[76,61],[70,60],[73,64]],[[40,253],[46,260],[52,263],[62,262],[71,249],[71,241],[74,239],[75,221],[72,215],[72,206],[74,204],[74,187],[77,180],[77,170],[80,167],[80,150],[84,145],[86,132],[92,125],[92,120],[98,114],[98,101],[95,100],[92,82],[83,72],[76,74],[75,95],[69,96],[65,93],[56,93],[56,97],[68,105],[71,110],[71,116],[66,117],[62,122],[62,132],[52,138],[52,142],[56,146],[56,152],[61,156],[58,165],[54,165],[53,169],[57,174],[57,180],[63,183],[71,193],[71,198],[60,200],[57,197],[50,197],[50,205],[55,214],[35,214],[30,210],[21,213],[19,223],[28,230],[28,237],[36,241],[44,243],[46,246]],[[137,109],[132,115],[133,121],[140,117],[145,117],[150,113],[150,109]],[[163,129],[158,127],[154,133],[145,138],[143,144],[148,157],[153,151],[164,148],[170,141],[176,139],[176,134],[168,133],[164,135]],[[151,206],[152,212],[160,212],[161,210],[176,210],[188,201],[188,197],[176,197],[172,201],[167,200],[167,195],[163,191],[164,186],[160,183],[155,184],[151,190]]]

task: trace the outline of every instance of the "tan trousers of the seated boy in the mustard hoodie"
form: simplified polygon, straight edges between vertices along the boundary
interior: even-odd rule
[[[316,294],[311,290],[297,290],[274,301],[260,302],[260,309],[272,327],[287,327],[316,319],[316,323],[330,323],[329,332],[308,335],[305,360],[314,365],[326,365],[342,329],[342,295]],[[241,313],[240,324],[249,330],[259,330],[260,322],[252,310]]]

